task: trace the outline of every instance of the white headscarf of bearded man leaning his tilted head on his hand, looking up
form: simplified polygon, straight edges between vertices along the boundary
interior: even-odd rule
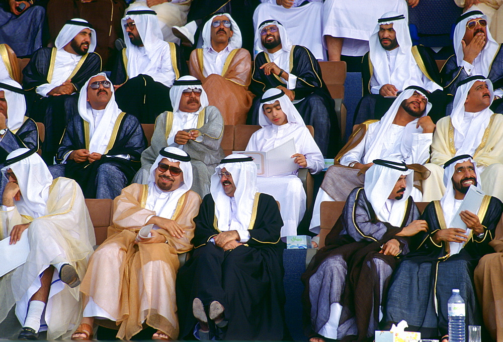
[[[428,92],[421,87],[410,86],[402,91],[400,95],[398,95],[398,97],[393,101],[393,104],[391,104],[391,107],[389,107],[388,111],[386,111],[384,116],[381,118],[381,121],[379,122],[379,131],[374,140],[371,142],[369,150],[365,153],[363,159],[364,164],[368,164],[374,159],[381,158],[382,147],[384,145],[384,142],[388,139],[389,128],[393,124],[393,120],[395,120],[396,112],[398,111],[398,108],[401,105],[402,101],[412,96],[414,91],[422,94],[428,100]],[[421,118],[427,116],[431,108],[432,104],[430,102],[427,102],[425,111],[423,112]],[[402,161],[405,161],[405,159],[412,153],[412,134],[423,133],[423,129],[421,127],[415,127],[417,120],[419,119],[420,118],[414,119],[413,121],[408,123],[407,126],[405,126],[402,138],[400,139],[400,151],[394,151],[396,154],[398,154],[398,152],[400,153],[400,155],[404,159]]]

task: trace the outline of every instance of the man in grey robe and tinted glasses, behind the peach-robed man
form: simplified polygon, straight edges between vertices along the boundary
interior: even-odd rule
[[[155,120],[152,145],[141,154],[141,169],[133,182],[146,184],[158,151],[166,146],[178,147],[191,156],[192,190],[203,197],[210,192],[210,177],[224,157],[220,148],[223,119],[217,107],[208,105],[197,78],[181,77],[170,92],[173,111],[164,111]]]

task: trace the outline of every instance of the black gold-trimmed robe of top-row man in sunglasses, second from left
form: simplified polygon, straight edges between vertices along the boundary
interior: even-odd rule
[[[175,79],[179,79],[188,75],[189,70],[187,63],[181,57],[179,46],[171,42],[169,44]],[[126,48],[117,56],[110,76],[113,84],[122,84],[115,91],[115,100],[119,108],[137,117],[142,124],[153,124],[161,112],[173,110],[170,99],[171,88],[156,82],[151,76],[139,74],[129,78]]]

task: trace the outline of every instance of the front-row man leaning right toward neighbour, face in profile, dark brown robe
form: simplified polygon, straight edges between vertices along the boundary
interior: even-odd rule
[[[364,187],[351,191],[326,247],[302,276],[305,307],[318,336],[311,342],[320,342],[320,336],[358,341],[374,336],[397,256],[410,251],[410,237],[427,229],[410,196],[413,171],[397,158],[373,163]]]

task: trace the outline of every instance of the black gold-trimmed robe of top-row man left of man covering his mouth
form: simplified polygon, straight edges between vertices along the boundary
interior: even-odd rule
[[[425,74],[428,79],[441,85],[442,81],[439,69],[430,49],[423,45],[415,45],[412,46],[411,50],[423,74]],[[355,110],[353,125],[361,124],[367,120],[380,120],[395,100],[394,97],[387,98],[370,92],[370,80],[373,75],[373,69],[374,67],[369,59],[369,53],[367,52],[362,59],[363,98],[360,100]],[[421,84],[411,85],[422,86]],[[428,100],[432,103],[432,109],[428,113],[428,116],[436,123],[440,118],[445,117],[446,105],[452,98],[439,89],[431,93]]]

